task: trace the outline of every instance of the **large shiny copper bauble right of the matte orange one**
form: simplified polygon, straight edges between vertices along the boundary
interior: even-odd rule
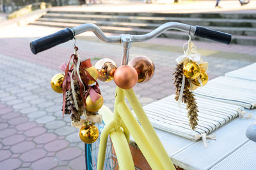
[[[148,82],[153,77],[155,65],[146,56],[132,58],[128,65],[135,68],[138,73],[138,82]]]

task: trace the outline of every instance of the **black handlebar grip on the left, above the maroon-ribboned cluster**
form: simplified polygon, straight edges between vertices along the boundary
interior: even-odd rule
[[[33,52],[33,54],[37,54],[38,52],[51,49],[51,47],[54,47],[61,43],[65,43],[69,40],[72,40],[73,38],[74,38],[74,35],[71,29],[69,28],[62,29],[57,33],[54,33],[52,35],[47,35],[42,38],[38,38],[33,42],[30,42],[30,49]]]

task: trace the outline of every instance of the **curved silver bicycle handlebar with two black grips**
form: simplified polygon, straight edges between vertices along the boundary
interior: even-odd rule
[[[188,24],[181,24],[179,22],[167,22],[145,35],[131,35],[131,42],[144,42],[150,40],[168,29],[177,29],[180,31],[187,32],[191,35],[207,38],[221,43],[229,44],[231,41],[231,35],[228,33],[207,29],[201,26],[189,26]],[[33,54],[37,54],[38,52],[51,49],[56,45],[72,40],[74,36],[79,35],[85,31],[93,31],[93,33],[104,42],[121,42],[120,36],[106,36],[98,26],[89,23],[82,24],[81,26],[73,28],[66,28],[52,35],[38,38],[30,42],[30,49],[33,52]]]

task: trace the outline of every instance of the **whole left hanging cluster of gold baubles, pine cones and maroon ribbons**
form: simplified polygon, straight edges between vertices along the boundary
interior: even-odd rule
[[[70,114],[72,126],[80,128],[79,137],[85,143],[93,143],[99,137],[99,130],[94,123],[102,123],[102,116],[97,113],[103,105],[97,79],[98,70],[90,59],[81,61],[78,48],[60,69],[65,72],[54,75],[51,87],[57,93],[63,93],[63,116]],[[73,62],[71,63],[71,59]]]

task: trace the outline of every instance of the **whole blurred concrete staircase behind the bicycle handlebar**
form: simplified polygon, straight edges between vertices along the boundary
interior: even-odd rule
[[[205,26],[232,34],[232,43],[256,45],[256,14],[250,13],[116,13],[49,10],[31,25],[74,27],[93,23],[106,33],[141,35],[166,22]],[[165,31],[160,37],[187,39],[181,31]],[[204,40],[203,38],[194,38]]]

